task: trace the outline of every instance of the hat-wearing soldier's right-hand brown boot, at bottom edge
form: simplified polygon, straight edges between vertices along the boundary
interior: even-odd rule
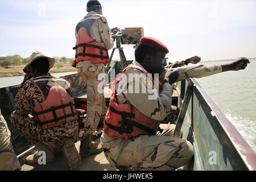
[[[63,153],[65,158],[68,160],[69,169],[72,171],[81,170],[81,157],[79,152],[76,150],[75,143],[73,139],[69,138],[65,140],[63,144]]]

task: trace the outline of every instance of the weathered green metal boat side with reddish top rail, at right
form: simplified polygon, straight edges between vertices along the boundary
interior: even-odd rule
[[[190,78],[179,82],[177,89],[181,109],[174,136],[181,128],[187,133],[195,163],[200,164],[194,169],[256,170],[256,153],[200,84]],[[216,154],[216,163],[209,163],[209,154]]]

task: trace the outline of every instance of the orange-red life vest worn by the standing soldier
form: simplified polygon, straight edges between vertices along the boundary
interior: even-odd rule
[[[102,16],[92,14],[85,16],[76,26],[76,60],[72,66],[76,67],[79,61],[92,61],[94,64],[108,64],[109,54],[104,43],[98,43],[92,38],[92,27]]]

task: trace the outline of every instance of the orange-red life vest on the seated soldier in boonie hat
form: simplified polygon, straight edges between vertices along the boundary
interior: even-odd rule
[[[41,76],[31,79],[42,94],[43,102],[32,109],[36,123],[42,129],[77,120],[70,85],[63,78]]]

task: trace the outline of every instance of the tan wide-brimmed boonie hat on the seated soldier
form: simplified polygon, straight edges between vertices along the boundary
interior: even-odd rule
[[[38,59],[40,57],[45,57],[49,60],[49,69],[51,69],[53,67],[53,65],[55,64],[54,58],[46,56],[43,52],[36,51],[36,52],[33,52],[32,55],[30,56],[30,59],[28,60],[26,67],[23,69],[23,72],[30,73],[31,63],[33,63],[36,59]]]

